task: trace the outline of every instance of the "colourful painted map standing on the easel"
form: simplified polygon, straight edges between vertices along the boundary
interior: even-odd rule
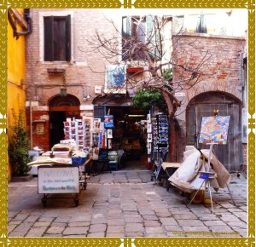
[[[229,124],[230,116],[203,117],[199,142],[227,144]]]

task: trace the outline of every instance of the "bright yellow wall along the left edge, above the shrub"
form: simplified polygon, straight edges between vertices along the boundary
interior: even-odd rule
[[[17,9],[20,13],[23,9]],[[18,31],[22,31],[18,25]],[[12,26],[8,22],[8,85],[7,85],[7,121],[8,121],[8,137],[11,135],[10,126],[15,121],[12,110],[19,114],[19,109],[25,110],[26,92],[25,86],[25,36],[18,39],[14,37]],[[11,178],[11,167],[8,164],[8,178]]]

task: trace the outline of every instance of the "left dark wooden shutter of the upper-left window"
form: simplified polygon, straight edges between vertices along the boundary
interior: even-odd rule
[[[54,16],[44,17],[44,60],[54,60],[54,28],[53,28]]]

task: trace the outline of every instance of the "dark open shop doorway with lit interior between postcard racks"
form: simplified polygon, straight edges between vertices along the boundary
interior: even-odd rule
[[[105,115],[113,115],[114,129],[112,150],[124,151],[120,170],[148,169],[147,153],[147,114],[143,109],[131,106],[112,104],[94,106],[94,118],[104,121]],[[111,102],[111,101],[110,101]],[[128,105],[128,106],[127,106]]]

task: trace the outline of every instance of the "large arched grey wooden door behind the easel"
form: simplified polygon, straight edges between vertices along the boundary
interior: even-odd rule
[[[221,92],[207,92],[195,96],[186,109],[187,145],[196,146],[196,137],[201,129],[201,118],[213,116],[213,110],[219,110],[219,116],[230,116],[227,145],[214,146],[220,162],[229,171],[241,171],[243,167],[243,148],[241,143],[241,101]],[[209,148],[199,144],[200,148]]]

